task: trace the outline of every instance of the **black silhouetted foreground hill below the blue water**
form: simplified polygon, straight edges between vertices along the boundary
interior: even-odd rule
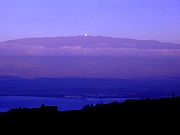
[[[13,109],[0,114],[1,132],[12,133],[135,133],[179,129],[180,97],[128,100],[87,105],[79,111],[59,112],[56,106]],[[171,128],[173,127],[173,128]],[[20,131],[20,132],[19,132]],[[172,133],[172,132],[171,132]]]

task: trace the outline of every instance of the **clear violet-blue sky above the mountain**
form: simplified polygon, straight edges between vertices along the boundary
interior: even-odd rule
[[[85,33],[180,43],[180,1],[0,0],[0,41]]]

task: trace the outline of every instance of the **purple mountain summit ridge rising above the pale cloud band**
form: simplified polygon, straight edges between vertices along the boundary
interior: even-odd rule
[[[104,36],[69,36],[69,37],[37,37],[20,38],[0,42],[0,46],[81,46],[85,48],[112,47],[112,48],[143,48],[143,49],[180,49],[180,44],[160,42],[156,40],[138,40],[131,38],[114,38]]]

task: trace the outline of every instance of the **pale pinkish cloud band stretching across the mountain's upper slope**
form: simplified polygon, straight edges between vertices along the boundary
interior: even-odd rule
[[[14,46],[0,47],[0,55],[26,55],[26,56],[178,56],[179,49],[139,49],[139,48],[112,48],[96,47],[84,48],[81,46],[62,46],[48,48],[45,46]],[[3,53],[4,52],[4,53]]]

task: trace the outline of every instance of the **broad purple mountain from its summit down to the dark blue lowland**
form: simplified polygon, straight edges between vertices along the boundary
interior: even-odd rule
[[[153,78],[180,76],[180,45],[102,36],[0,43],[0,76]]]

